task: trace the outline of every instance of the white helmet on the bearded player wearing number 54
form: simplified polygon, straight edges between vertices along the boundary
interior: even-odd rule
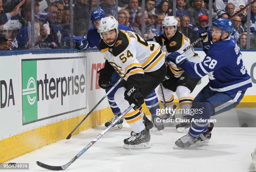
[[[111,15],[109,17],[105,17],[100,20],[100,24],[99,24],[99,28],[98,28],[98,30],[100,32],[100,38],[102,38],[104,40],[102,33],[106,32],[108,30],[112,30],[112,29],[116,30],[116,33],[117,33],[116,38],[115,38],[115,41],[116,41],[116,39],[118,37],[118,21],[115,20],[115,18]],[[109,45],[109,46],[113,46],[115,44],[115,41],[112,45]],[[105,40],[104,40],[104,42],[105,42]]]

